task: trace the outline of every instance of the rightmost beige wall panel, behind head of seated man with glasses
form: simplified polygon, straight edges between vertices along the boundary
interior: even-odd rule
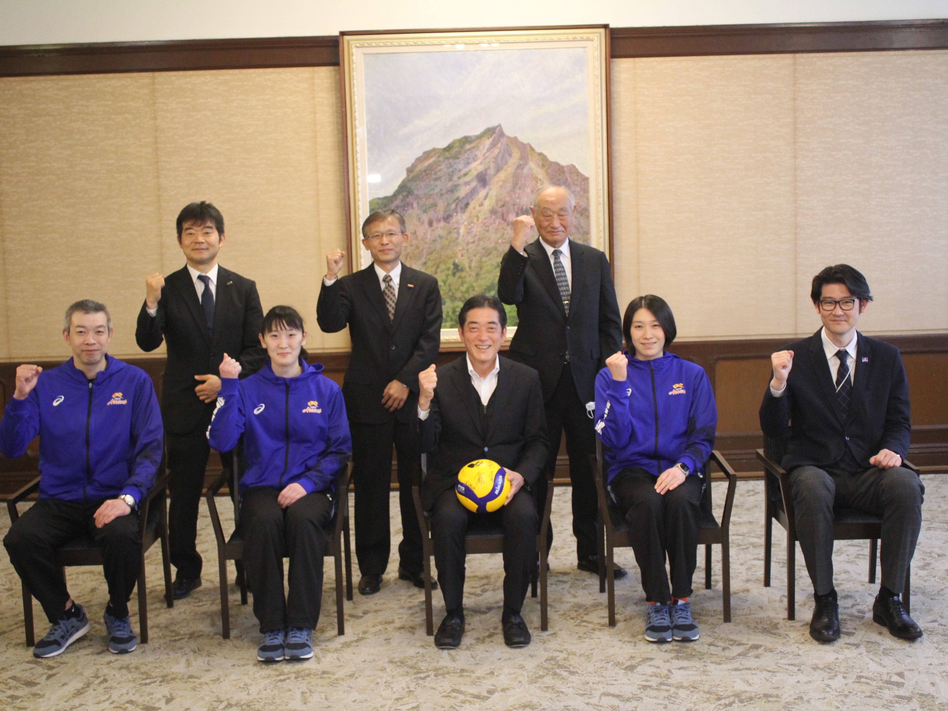
[[[846,262],[876,301],[866,332],[948,329],[948,52],[797,58],[797,297]]]

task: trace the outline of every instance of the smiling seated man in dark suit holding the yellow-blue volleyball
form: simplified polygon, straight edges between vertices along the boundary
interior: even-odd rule
[[[418,376],[421,444],[428,452],[421,496],[432,512],[434,562],[447,609],[434,644],[441,649],[461,644],[465,534],[479,518],[493,517],[503,529],[503,641],[507,647],[526,647],[530,631],[520,609],[537,559],[533,484],[547,455],[543,393],[537,371],[498,356],[507,317],[497,297],[481,294],[465,301],[458,324],[467,355]],[[507,470],[510,493],[493,513],[471,513],[454,491],[458,471],[477,459]]]

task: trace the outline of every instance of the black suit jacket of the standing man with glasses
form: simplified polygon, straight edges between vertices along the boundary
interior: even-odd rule
[[[373,264],[319,290],[319,328],[333,334],[349,325],[353,351],[342,384],[349,421],[363,425],[389,422],[382,392],[392,380],[409,387],[409,397],[394,416],[410,422],[418,402],[418,374],[438,356],[441,346],[441,291],[438,280],[402,263],[395,318],[378,284]]]

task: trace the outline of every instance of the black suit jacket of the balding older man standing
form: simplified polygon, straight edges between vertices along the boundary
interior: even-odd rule
[[[609,260],[595,247],[570,241],[573,289],[567,319],[553,265],[539,238],[525,251],[526,257],[513,246],[507,250],[497,283],[501,301],[516,304],[520,319],[510,357],[538,371],[543,397],[549,399],[569,353],[576,392],[584,403],[592,402],[595,375],[622,346]]]

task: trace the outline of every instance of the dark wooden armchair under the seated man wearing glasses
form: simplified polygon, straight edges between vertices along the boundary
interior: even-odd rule
[[[777,464],[787,453],[789,438],[764,436],[764,448],[757,449],[757,459],[764,465],[764,587],[770,587],[771,548],[773,547],[773,521],[776,520],[787,531],[787,619],[796,619],[796,520],[793,515],[793,499],[790,496],[790,475]],[[919,469],[910,462],[902,466],[919,474]],[[833,508],[833,540],[869,541],[869,582],[876,581],[876,558],[879,538],[882,538],[883,518],[854,508]],[[905,612],[911,610],[912,566],[905,569],[905,592],[902,605]]]

